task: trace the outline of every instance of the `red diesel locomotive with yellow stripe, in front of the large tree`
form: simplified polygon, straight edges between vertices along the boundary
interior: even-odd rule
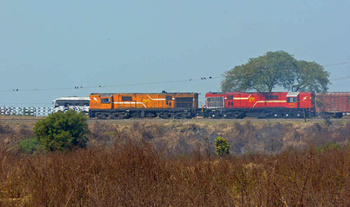
[[[303,118],[315,115],[312,92],[207,93],[203,117]]]

